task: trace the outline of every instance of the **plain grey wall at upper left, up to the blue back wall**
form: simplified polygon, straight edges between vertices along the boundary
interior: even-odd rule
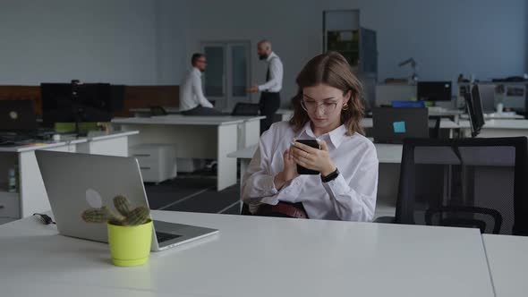
[[[179,84],[184,13],[176,6],[169,0],[2,0],[0,84]]]

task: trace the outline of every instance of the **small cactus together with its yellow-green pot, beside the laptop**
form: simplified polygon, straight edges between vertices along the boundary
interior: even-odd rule
[[[149,260],[152,242],[149,208],[132,208],[122,195],[115,196],[114,206],[118,213],[106,206],[89,208],[82,213],[82,219],[87,223],[106,223],[114,265],[132,267],[145,264]]]

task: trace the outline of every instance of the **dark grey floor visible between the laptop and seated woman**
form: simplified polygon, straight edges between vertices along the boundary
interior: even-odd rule
[[[151,209],[237,215],[240,213],[240,184],[216,190],[216,176],[179,174],[174,180],[145,188]]]

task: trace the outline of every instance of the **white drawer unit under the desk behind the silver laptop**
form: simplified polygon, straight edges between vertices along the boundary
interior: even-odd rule
[[[163,182],[176,176],[176,148],[167,144],[141,144],[130,148],[140,163],[143,182]]]

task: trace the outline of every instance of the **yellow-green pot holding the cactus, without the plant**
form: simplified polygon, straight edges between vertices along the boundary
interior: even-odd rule
[[[139,266],[149,261],[152,221],[143,225],[108,226],[108,244],[115,266]]]

